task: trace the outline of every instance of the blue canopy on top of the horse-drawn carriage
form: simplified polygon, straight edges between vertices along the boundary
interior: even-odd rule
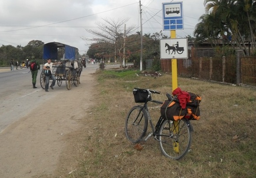
[[[44,45],[43,59],[56,60],[58,57],[58,48],[64,49],[64,59],[75,60],[75,53],[76,51],[78,51],[78,48],[65,45],[59,42],[50,42]]]

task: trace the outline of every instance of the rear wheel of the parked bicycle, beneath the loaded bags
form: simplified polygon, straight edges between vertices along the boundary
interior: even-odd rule
[[[192,129],[188,120],[165,120],[159,130],[159,145],[162,153],[171,159],[181,159],[192,142]]]

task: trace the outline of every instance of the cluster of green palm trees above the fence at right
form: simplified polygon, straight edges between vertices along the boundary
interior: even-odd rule
[[[205,38],[216,44],[222,40],[223,45],[236,45],[246,55],[245,41],[251,41],[252,50],[256,50],[256,0],[204,0],[204,6],[206,14],[194,31],[196,41]]]

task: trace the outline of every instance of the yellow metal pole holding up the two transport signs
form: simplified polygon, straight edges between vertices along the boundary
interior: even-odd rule
[[[171,38],[176,38],[176,30],[171,30]],[[172,59],[172,86],[173,90],[178,87],[177,59]],[[173,126],[173,134],[178,133],[179,121],[173,121]],[[176,141],[173,141],[173,151],[179,153],[179,143]]]

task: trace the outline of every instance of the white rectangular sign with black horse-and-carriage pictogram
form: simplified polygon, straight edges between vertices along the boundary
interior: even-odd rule
[[[161,59],[187,59],[188,38],[166,38],[160,40]]]

